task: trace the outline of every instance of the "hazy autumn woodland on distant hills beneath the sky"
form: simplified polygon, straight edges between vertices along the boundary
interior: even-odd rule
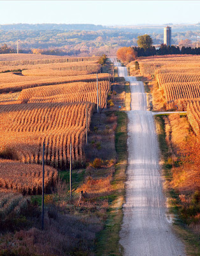
[[[92,24],[14,24],[0,26],[0,47],[22,53],[89,56],[114,56],[118,47],[138,46],[138,36],[147,33],[154,45],[163,43],[166,26],[107,27]],[[199,47],[199,24],[172,26],[172,44]],[[185,41],[186,40],[186,41]],[[188,41],[187,41],[188,40]],[[0,52],[8,53],[8,52]]]

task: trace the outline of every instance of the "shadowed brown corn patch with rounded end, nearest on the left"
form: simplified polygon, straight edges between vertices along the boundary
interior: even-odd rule
[[[22,195],[41,194],[41,165],[1,159],[0,176],[0,188],[12,189],[15,192],[22,193]],[[45,166],[45,192],[51,191],[57,177],[57,170],[50,166]]]

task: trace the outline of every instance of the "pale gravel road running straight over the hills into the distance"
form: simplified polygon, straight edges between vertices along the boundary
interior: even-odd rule
[[[118,67],[118,76],[124,76],[131,87],[129,164],[120,244],[125,256],[183,256],[184,246],[173,233],[166,213],[154,117],[146,111],[143,83],[128,77],[126,67]]]

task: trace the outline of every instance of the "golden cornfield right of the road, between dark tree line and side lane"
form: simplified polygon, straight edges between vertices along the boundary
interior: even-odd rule
[[[200,56],[156,56],[138,62],[142,75],[155,76],[167,110],[186,110],[189,100],[200,98]]]

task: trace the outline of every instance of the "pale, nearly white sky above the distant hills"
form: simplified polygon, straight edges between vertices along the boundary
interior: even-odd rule
[[[0,1],[0,24],[196,24],[200,1]]]

